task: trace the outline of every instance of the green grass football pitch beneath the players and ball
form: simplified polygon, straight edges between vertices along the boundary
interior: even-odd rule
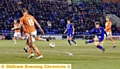
[[[50,42],[36,41],[35,44],[44,55],[43,59],[35,57],[27,59],[29,53],[25,53],[25,41],[18,40],[17,46],[13,46],[12,40],[0,40],[0,64],[72,64],[72,69],[120,69],[120,41],[115,41],[117,48],[112,49],[111,41],[106,41],[103,54],[93,44],[84,44],[84,40],[76,40],[70,47],[67,40],[51,40],[56,44],[50,48]],[[73,56],[67,53],[71,52]]]

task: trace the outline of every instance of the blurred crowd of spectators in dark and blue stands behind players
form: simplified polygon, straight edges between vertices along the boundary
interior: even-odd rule
[[[13,33],[13,20],[19,20],[22,16],[21,8],[24,7],[37,19],[46,34],[63,34],[67,19],[73,23],[75,34],[83,34],[94,27],[95,21],[100,21],[104,27],[106,14],[120,17],[120,3],[0,0],[1,34]],[[116,24],[112,25],[112,30],[113,33],[120,33]]]

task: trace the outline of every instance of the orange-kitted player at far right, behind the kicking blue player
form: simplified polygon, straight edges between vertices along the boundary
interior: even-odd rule
[[[110,16],[106,16],[105,31],[107,32],[108,38],[112,41],[113,49],[116,48],[115,41],[112,38],[112,22],[110,21]]]

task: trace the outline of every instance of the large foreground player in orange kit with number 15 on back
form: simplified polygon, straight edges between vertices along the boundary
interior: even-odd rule
[[[33,50],[38,54],[38,57],[36,59],[43,58],[43,55],[40,53],[40,51],[34,44],[37,33],[35,29],[35,25],[42,31],[43,34],[44,31],[42,30],[41,26],[36,21],[36,19],[32,15],[28,14],[28,11],[25,8],[23,8],[22,13],[23,16],[20,19],[20,25],[17,28],[12,28],[12,30],[19,29],[22,26],[24,26],[26,32],[26,40],[28,42],[27,45],[29,46],[29,52],[30,52],[28,58],[32,58],[34,56]]]

